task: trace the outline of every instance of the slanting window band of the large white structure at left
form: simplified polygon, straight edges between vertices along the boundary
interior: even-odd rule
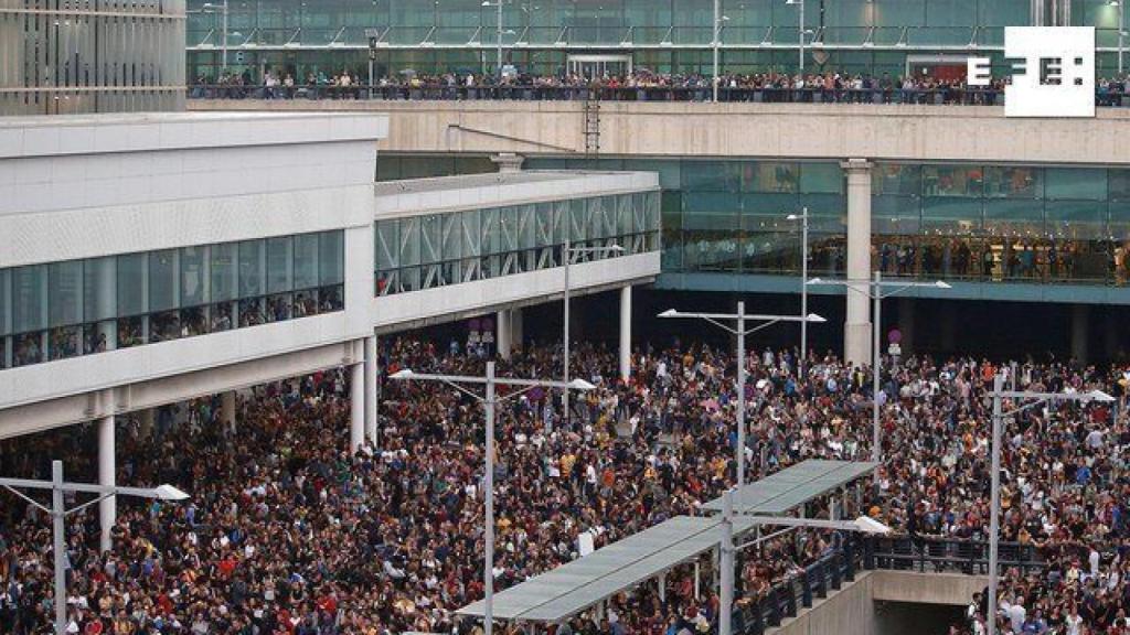
[[[341,230],[0,269],[0,368],[345,307]]]

